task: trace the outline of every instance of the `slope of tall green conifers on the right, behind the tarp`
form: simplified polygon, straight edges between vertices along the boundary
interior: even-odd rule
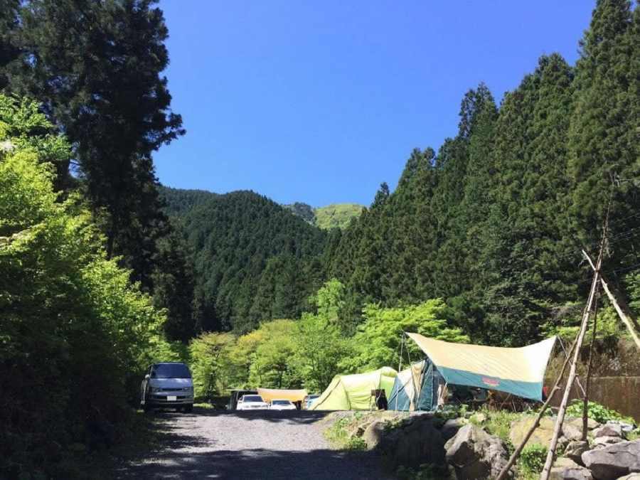
[[[605,270],[637,267],[640,9],[600,1],[575,68],[543,56],[498,107],[464,96],[457,135],[415,150],[342,235],[329,274],[362,304],[443,297],[474,341],[521,345],[580,302],[610,211]],[[610,206],[609,206],[610,203]]]

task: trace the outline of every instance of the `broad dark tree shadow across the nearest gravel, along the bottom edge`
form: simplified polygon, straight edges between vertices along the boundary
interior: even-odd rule
[[[388,479],[371,452],[319,449],[287,452],[245,449],[240,452],[171,452],[117,471],[119,479]]]

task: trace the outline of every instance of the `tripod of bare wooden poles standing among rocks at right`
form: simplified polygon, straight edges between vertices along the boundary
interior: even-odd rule
[[[608,209],[607,209],[608,210]],[[543,468],[542,473],[540,474],[540,480],[548,480],[549,475],[551,473],[551,467],[553,466],[553,462],[555,460],[555,450],[558,447],[558,438],[560,437],[560,433],[562,432],[562,424],[565,421],[565,412],[567,410],[567,402],[569,401],[570,390],[572,385],[574,384],[577,378],[577,363],[580,355],[580,348],[582,347],[582,342],[585,339],[585,334],[587,332],[587,328],[589,326],[589,320],[593,317],[593,336],[590,343],[590,351],[589,351],[589,360],[587,363],[587,378],[585,383],[585,392],[583,397],[583,408],[582,408],[582,440],[587,439],[587,406],[589,402],[589,383],[590,383],[590,375],[591,375],[591,358],[592,358],[592,349],[593,343],[595,339],[596,329],[597,329],[597,299],[600,294],[600,287],[604,289],[604,292],[609,297],[609,301],[613,304],[614,309],[616,309],[618,316],[626,326],[626,329],[629,330],[629,334],[631,334],[631,338],[633,338],[636,346],[640,350],[640,338],[639,334],[634,330],[634,326],[637,331],[640,331],[640,326],[638,321],[634,318],[633,314],[629,308],[624,304],[624,302],[619,301],[616,296],[614,296],[612,292],[612,288],[609,286],[607,279],[604,278],[601,267],[602,267],[602,257],[604,256],[604,250],[607,243],[607,228],[609,222],[609,213],[607,211],[607,217],[604,220],[604,228],[602,230],[602,239],[600,240],[600,247],[598,252],[597,261],[594,264],[591,257],[588,253],[583,249],[582,255],[585,256],[587,261],[590,263],[592,270],[594,272],[593,279],[591,282],[591,289],[589,292],[589,297],[587,297],[587,305],[585,306],[584,311],[582,311],[582,322],[580,324],[580,330],[577,333],[575,340],[572,343],[569,351],[567,351],[567,358],[565,359],[565,363],[562,365],[562,369],[560,370],[560,375],[558,375],[558,379],[555,380],[555,385],[550,390],[547,400],[544,402],[543,406],[540,407],[540,412],[538,412],[538,416],[535,418],[533,425],[528,430],[525,435],[523,441],[516,448],[515,452],[509,458],[507,464],[503,467],[500,474],[498,474],[497,480],[503,480],[508,474],[511,466],[516,463],[516,460],[520,456],[523,448],[527,444],[531,435],[535,431],[535,429],[540,425],[540,420],[542,419],[545,411],[548,409],[553,396],[558,390],[560,390],[560,383],[562,382],[562,378],[565,375],[565,370],[567,366],[569,366],[569,377],[567,378],[567,383],[565,385],[564,393],[562,394],[562,402],[560,402],[560,408],[558,410],[558,417],[555,420],[555,426],[553,429],[553,437],[551,438],[551,442],[549,444],[549,449],[547,453],[547,459],[545,461],[545,466]]]

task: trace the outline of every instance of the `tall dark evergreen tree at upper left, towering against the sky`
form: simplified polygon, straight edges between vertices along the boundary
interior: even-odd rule
[[[75,145],[79,173],[107,233],[149,285],[159,212],[151,153],[184,133],[160,74],[168,33],[154,0],[30,0],[21,9],[11,90],[43,101]]]

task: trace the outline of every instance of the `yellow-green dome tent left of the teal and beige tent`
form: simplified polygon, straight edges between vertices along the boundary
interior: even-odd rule
[[[353,375],[336,375],[309,410],[371,410],[375,407],[371,390],[385,390],[389,398],[396,375],[398,372],[390,367]]]

